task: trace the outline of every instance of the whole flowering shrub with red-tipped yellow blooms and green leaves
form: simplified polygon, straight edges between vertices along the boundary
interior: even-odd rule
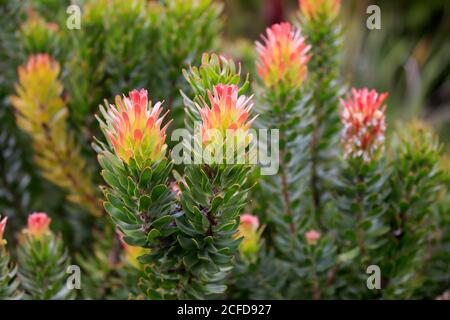
[[[1,299],[444,297],[441,146],[420,122],[387,126],[388,93],[347,89],[340,1],[267,28],[254,75],[206,53],[216,1],[88,0],[77,32],[65,8],[13,3]]]

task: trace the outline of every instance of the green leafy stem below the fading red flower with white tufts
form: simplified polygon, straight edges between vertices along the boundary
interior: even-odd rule
[[[338,262],[348,273],[346,280],[352,283],[340,288],[344,296],[374,297],[366,288],[366,268],[380,265],[385,259],[386,236],[390,229],[384,219],[390,192],[388,178],[385,159],[365,162],[361,157],[350,158],[339,172],[336,227],[341,253]]]

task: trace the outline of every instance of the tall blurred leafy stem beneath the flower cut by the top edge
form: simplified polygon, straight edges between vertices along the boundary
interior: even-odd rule
[[[308,86],[312,92],[313,131],[309,144],[309,178],[311,210],[314,219],[326,229],[324,209],[329,200],[330,180],[335,175],[334,161],[340,124],[339,97],[343,94],[340,80],[342,30],[338,18],[318,15],[315,19],[300,18],[300,26],[311,45],[308,62]]]

